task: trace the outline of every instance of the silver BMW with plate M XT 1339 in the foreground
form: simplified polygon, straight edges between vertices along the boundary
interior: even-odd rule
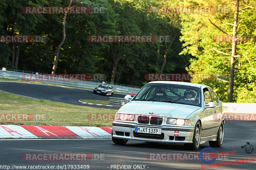
[[[112,123],[112,140],[184,144],[198,150],[209,141],[220,147],[224,139],[223,105],[206,85],[152,81],[123,105]]]

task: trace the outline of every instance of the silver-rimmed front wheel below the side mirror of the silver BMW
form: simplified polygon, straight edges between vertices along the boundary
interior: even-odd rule
[[[190,150],[198,150],[200,146],[200,141],[201,141],[201,124],[199,121],[196,122],[196,126],[194,129],[194,135],[192,139],[192,144],[184,144],[186,148]]]

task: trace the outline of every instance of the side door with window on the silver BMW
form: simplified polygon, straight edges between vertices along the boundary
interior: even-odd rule
[[[205,104],[212,102],[212,97],[210,95],[210,92],[208,88],[203,89],[204,93],[204,119],[203,119],[203,127],[202,127],[202,137],[206,136],[212,136],[215,132],[216,127],[216,119],[214,115],[216,114],[214,112],[215,108],[205,108]]]

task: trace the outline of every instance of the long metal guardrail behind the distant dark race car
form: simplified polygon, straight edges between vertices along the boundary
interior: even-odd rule
[[[21,76],[23,74],[24,73],[21,73],[21,72],[0,70],[1,78],[22,80]],[[35,74],[35,75],[37,75],[37,74]],[[99,82],[78,81],[78,80],[77,81],[54,81],[54,80],[52,80],[52,81],[36,81],[36,82],[51,83],[51,84],[57,84],[57,85],[63,85],[63,86],[72,86],[72,87],[88,88],[88,89],[94,89],[96,86],[98,86],[100,84]],[[140,90],[139,88],[134,88],[134,87],[119,86],[119,85],[114,85],[114,84],[108,84],[108,85],[111,85],[112,87],[114,87],[114,92],[136,94]]]

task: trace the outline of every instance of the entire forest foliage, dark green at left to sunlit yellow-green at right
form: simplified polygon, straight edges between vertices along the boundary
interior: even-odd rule
[[[20,46],[18,69],[51,73],[62,37],[63,14],[24,14],[25,6],[67,6],[69,0],[0,1],[0,35],[46,35],[46,43],[0,43],[0,67],[14,68],[13,47]],[[104,14],[68,14],[66,39],[61,46],[57,74],[106,74],[110,82],[143,86],[144,75],[161,73],[164,53],[170,42],[90,43],[90,35],[156,35],[176,38],[167,50],[163,73],[213,74],[212,81],[193,81],[209,85],[220,100],[227,101],[231,43],[215,42],[232,32],[234,4],[230,0],[77,0],[72,5],[103,7]],[[247,4],[248,3],[248,4]],[[247,8],[247,6],[250,8]],[[147,13],[149,6],[227,6],[228,13],[175,14]],[[241,1],[237,35],[256,35],[255,1]],[[247,8],[247,9],[246,9]],[[113,49],[113,50],[112,50]],[[159,49],[159,52],[158,52]],[[256,81],[255,43],[238,43],[236,49],[234,102],[253,102]],[[120,58],[116,61],[116,56]]]

